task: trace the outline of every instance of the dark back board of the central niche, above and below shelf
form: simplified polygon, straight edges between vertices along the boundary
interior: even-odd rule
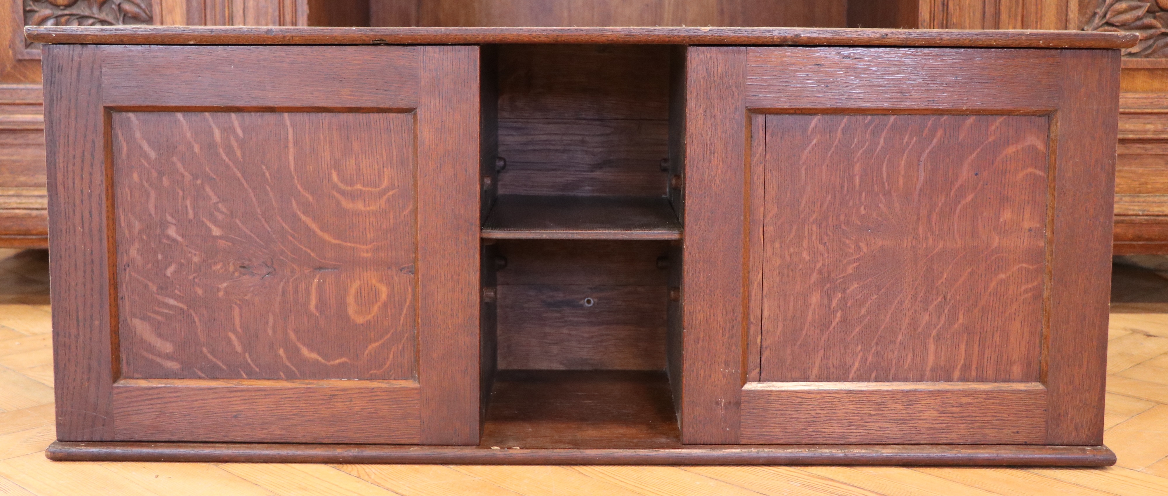
[[[499,47],[499,195],[665,195],[669,47]],[[558,200],[556,200],[558,202]],[[663,370],[662,242],[500,240],[499,368]]]

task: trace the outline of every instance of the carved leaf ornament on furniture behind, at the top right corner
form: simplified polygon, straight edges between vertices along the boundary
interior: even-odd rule
[[[1124,50],[1127,57],[1168,58],[1168,0],[1099,0],[1083,27],[1089,32],[1136,33],[1140,43]]]

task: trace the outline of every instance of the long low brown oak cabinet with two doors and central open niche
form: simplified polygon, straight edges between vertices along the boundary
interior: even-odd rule
[[[50,457],[1114,461],[1134,35],[29,33]]]

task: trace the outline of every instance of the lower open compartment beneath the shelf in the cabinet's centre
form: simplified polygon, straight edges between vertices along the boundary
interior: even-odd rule
[[[482,443],[679,442],[666,376],[669,242],[505,239],[493,245],[496,372]],[[502,265],[500,263],[500,265]]]

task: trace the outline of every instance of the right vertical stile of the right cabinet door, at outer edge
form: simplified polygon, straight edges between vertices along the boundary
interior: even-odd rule
[[[1047,443],[1103,443],[1119,51],[1062,50],[1055,119]]]

